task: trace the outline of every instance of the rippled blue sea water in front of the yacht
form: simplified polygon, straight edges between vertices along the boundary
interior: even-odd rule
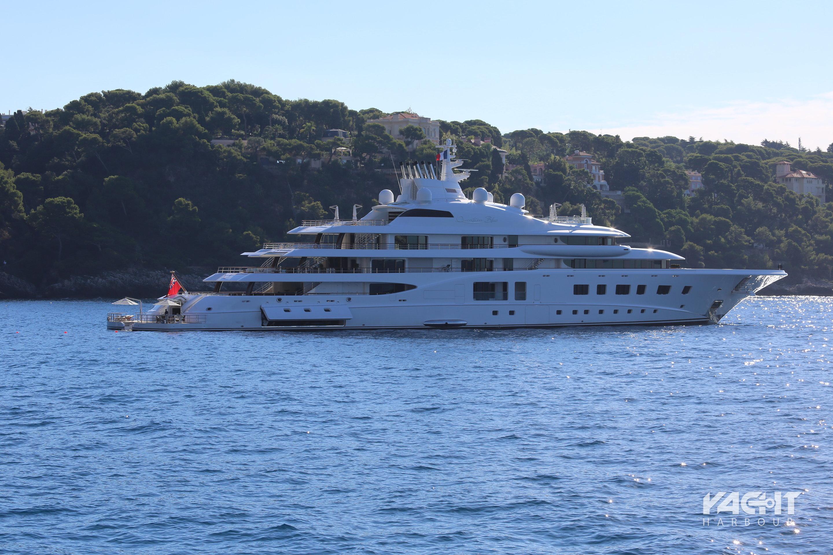
[[[833,553],[829,298],[506,331],[111,309],[0,302],[0,553]]]

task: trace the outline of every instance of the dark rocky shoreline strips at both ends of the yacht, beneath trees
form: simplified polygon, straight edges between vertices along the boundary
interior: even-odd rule
[[[211,275],[211,268],[188,268],[178,274],[187,290],[206,290],[202,281]],[[758,295],[818,295],[833,296],[833,282],[803,278],[796,283],[777,281]],[[167,270],[107,271],[100,275],[76,275],[50,285],[38,287],[14,275],[0,272],[0,299],[118,299],[125,295],[142,299],[154,299],[165,294],[170,273]]]

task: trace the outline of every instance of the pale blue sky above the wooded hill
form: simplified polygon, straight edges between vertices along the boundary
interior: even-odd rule
[[[833,142],[831,2],[7,2],[2,21],[4,112],[234,78],[501,131]]]

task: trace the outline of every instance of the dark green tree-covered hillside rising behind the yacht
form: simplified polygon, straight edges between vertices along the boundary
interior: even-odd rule
[[[347,215],[357,202],[367,211],[379,191],[394,187],[377,169],[436,152],[419,128],[392,137],[366,124],[382,115],[335,100],[289,101],[233,80],[91,92],[62,109],[18,112],[0,136],[2,271],[42,288],[125,267],[236,264],[240,252],[284,239],[302,219],[326,217],[326,206]],[[352,139],[322,141],[330,128]],[[478,170],[465,186],[486,187],[498,201],[521,192],[536,214],[552,202],[574,214],[583,203],[596,223],[635,240],[669,240],[691,267],[781,263],[793,277],[831,277],[833,204],[796,195],[773,176],[776,162],[787,160],[830,184],[833,145],[800,151],[780,141],[501,134],[481,120],[441,121],[441,131]],[[217,136],[247,144],[212,146]],[[475,146],[467,140],[474,136],[491,137],[519,167],[504,174],[496,149]],[[340,161],[337,146],[351,147],[356,161]],[[611,189],[626,191],[628,211],[566,164],[574,150],[601,161]],[[317,159],[322,167],[313,170]],[[541,184],[531,180],[531,163],[545,164]],[[705,184],[690,198],[682,192],[686,170],[701,171]]]

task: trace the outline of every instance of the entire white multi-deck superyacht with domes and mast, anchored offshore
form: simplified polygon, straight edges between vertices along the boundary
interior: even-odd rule
[[[436,165],[401,165],[400,194],[379,194],[366,216],[304,221],[297,243],[243,255],[208,292],[173,283],[115,330],[350,330],[667,325],[717,322],[782,270],[681,268],[681,256],[621,244],[626,233],[585,216],[536,218],[521,194],[508,205],[466,198],[446,141]],[[245,291],[223,291],[231,283]],[[242,288],[242,285],[237,285]],[[123,299],[114,304],[135,305]]]

